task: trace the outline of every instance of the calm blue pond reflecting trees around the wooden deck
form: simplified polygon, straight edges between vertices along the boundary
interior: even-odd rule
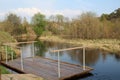
[[[35,44],[35,56],[42,56],[57,60],[57,53],[51,50],[76,47],[70,44],[41,42]],[[31,44],[24,44],[23,57],[32,57]],[[82,65],[82,49],[60,52],[60,60]],[[120,55],[105,52],[99,49],[86,50],[86,66],[94,68],[88,75],[78,80],[119,80],[120,79]]]

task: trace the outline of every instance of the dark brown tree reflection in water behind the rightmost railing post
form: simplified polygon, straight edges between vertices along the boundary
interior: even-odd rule
[[[99,50],[86,50],[85,53],[85,61],[86,65],[94,65],[97,60],[99,59]],[[78,61],[80,64],[83,62],[83,54],[82,54],[82,49],[81,50],[72,50],[69,53],[69,56],[72,58],[72,60]]]

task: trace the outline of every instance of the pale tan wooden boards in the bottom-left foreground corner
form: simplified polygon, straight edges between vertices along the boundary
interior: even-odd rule
[[[45,80],[33,74],[2,74],[2,80]]]

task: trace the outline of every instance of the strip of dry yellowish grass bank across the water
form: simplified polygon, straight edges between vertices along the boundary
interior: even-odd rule
[[[116,39],[83,40],[83,39],[64,39],[59,36],[41,36],[39,39],[44,41],[69,43],[78,46],[84,45],[87,48],[99,48],[109,52],[120,53],[120,40]]]

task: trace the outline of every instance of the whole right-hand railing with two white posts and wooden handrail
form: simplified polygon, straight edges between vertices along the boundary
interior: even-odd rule
[[[83,70],[85,70],[85,46],[83,47],[74,47],[74,48],[67,48],[67,49],[59,49],[59,50],[52,50],[51,52],[57,52],[58,53],[58,78],[61,77],[61,71],[60,71],[60,52],[67,51],[67,50],[75,50],[75,49],[83,49]]]

